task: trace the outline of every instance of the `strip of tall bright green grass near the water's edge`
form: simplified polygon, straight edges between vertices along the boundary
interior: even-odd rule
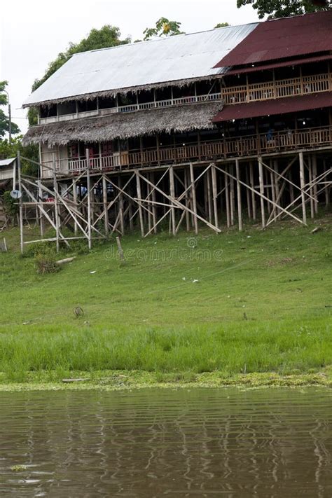
[[[0,371],[288,373],[332,362],[331,327],[301,324],[57,330],[0,335]]]

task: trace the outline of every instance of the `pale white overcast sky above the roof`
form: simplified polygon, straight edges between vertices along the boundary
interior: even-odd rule
[[[20,109],[32,83],[48,62],[78,42],[90,29],[118,26],[125,36],[142,39],[146,27],[161,17],[182,23],[186,33],[212,29],[218,22],[240,25],[258,20],[251,6],[236,0],[4,0],[1,2],[0,81],[8,80],[13,121],[27,130]]]

